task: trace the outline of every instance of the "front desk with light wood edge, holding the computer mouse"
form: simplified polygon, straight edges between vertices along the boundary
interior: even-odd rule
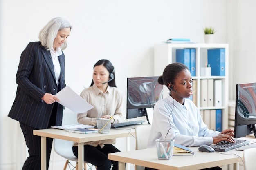
[[[249,140],[251,143],[256,141],[256,139]],[[207,153],[198,151],[198,147],[189,148],[193,150],[194,155],[175,155],[170,160],[159,160],[156,148],[111,153],[108,154],[108,159],[119,161],[119,170],[125,170],[125,163],[159,170],[198,170],[233,163],[234,170],[238,170],[239,162],[243,158],[243,151],[235,149]]]

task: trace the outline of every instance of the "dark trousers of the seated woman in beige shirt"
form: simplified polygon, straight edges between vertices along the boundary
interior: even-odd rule
[[[99,145],[94,147],[90,145],[84,145],[84,160],[97,166],[97,170],[110,170],[111,165],[113,165],[112,170],[118,170],[118,162],[108,160],[109,153],[120,152],[112,144],[105,144],[103,148]],[[76,157],[78,157],[78,146],[73,146],[73,152]]]

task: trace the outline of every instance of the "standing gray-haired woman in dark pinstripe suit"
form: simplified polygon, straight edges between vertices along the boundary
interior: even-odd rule
[[[67,37],[72,26],[65,18],[50,20],[39,33],[39,42],[30,42],[20,56],[16,74],[16,98],[9,117],[20,122],[29,157],[22,170],[40,170],[39,136],[33,130],[61,125],[63,106],[55,94],[65,87]],[[52,139],[47,138],[47,169]]]

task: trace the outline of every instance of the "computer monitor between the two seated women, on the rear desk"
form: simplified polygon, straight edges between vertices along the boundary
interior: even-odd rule
[[[163,99],[163,85],[157,81],[158,76],[127,78],[127,119],[146,116],[148,120],[146,108]]]

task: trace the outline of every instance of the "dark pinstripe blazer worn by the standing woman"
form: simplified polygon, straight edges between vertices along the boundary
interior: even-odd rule
[[[64,53],[59,56],[59,62],[59,86],[62,89],[65,87]],[[8,116],[37,129],[47,128],[54,104],[46,104],[41,98],[45,93],[55,95],[57,84],[50,51],[47,51],[40,42],[30,42],[22,52],[16,83],[16,98]],[[62,108],[63,106],[58,104],[56,125],[61,125]]]

